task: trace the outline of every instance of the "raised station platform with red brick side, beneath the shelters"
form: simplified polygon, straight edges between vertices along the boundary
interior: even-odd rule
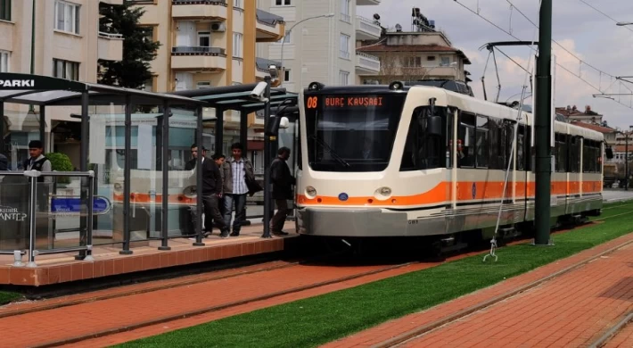
[[[286,229],[286,232],[289,228]],[[74,253],[38,255],[36,268],[13,267],[12,255],[0,255],[0,286],[48,286],[77,280],[104,278],[151,269],[233,259],[287,250],[292,239],[299,236],[261,238],[262,224],[244,226],[240,236],[220,238],[218,230],[203,238],[204,246],[193,246],[190,238],[169,239],[171,250],[160,251],[160,240],[132,243],[131,255],[119,254],[120,245],[95,245],[95,261],[77,261]],[[136,246],[136,247],[135,247]],[[26,262],[27,257],[22,261]]]

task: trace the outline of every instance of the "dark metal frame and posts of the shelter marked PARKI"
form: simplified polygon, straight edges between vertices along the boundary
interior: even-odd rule
[[[179,107],[183,109],[194,109],[197,117],[197,129],[196,139],[199,144],[202,140],[202,107],[204,102],[192,98],[188,98],[182,95],[174,94],[160,94],[145,92],[137,89],[121,88],[103,86],[92,83],[84,83],[78,81],[71,81],[68,79],[51,78],[40,75],[30,74],[18,74],[18,73],[0,73],[0,114],[2,115],[2,121],[0,121],[0,153],[4,152],[4,104],[28,104],[40,106],[40,118],[39,118],[39,136],[44,140],[45,135],[45,110],[46,106],[81,106],[81,137],[82,142],[80,145],[80,171],[86,172],[88,168],[88,139],[89,125],[88,125],[88,106],[89,105],[109,105],[119,104],[125,105],[125,153],[130,153],[131,148],[131,124],[132,124],[132,109],[136,105],[161,105],[163,109],[163,115],[171,115],[171,107]],[[169,122],[164,121],[163,117],[160,117],[159,128],[162,130],[162,156],[167,158],[169,155]],[[162,189],[163,192],[168,192],[168,162],[162,161]],[[131,254],[129,250],[130,246],[130,170],[131,159],[129,155],[125,156],[125,168],[124,168],[124,200],[123,200],[123,250],[119,253]],[[201,186],[201,157],[198,158],[197,168],[197,186]],[[94,189],[94,187],[90,187]],[[81,191],[81,200],[85,202],[88,197],[86,190]],[[160,250],[169,250],[168,246],[168,200],[162,200],[161,209],[162,221],[161,221],[161,237],[162,240]],[[92,203],[90,203],[92,205]],[[198,216],[201,216],[202,201],[197,200],[197,212]],[[204,245],[201,243],[201,225],[200,219],[197,220],[196,226],[196,241],[194,245]],[[86,217],[81,218],[80,222],[80,238],[86,242],[86,245],[92,244],[92,226],[87,225]],[[86,252],[80,252],[76,259],[83,260],[86,258]]]

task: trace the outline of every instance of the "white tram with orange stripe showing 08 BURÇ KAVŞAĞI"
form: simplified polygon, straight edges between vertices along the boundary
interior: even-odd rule
[[[506,105],[400,82],[343,87],[313,82],[300,105],[300,234],[455,236],[479,231],[489,238],[501,203],[500,229],[531,229],[535,162],[530,113],[518,117],[519,111]],[[599,215],[603,135],[559,121],[554,128],[552,225]]]

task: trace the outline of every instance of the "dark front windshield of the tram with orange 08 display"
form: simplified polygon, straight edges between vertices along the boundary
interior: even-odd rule
[[[381,171],[406,95],[307,95],[308,164],[317,171]]]

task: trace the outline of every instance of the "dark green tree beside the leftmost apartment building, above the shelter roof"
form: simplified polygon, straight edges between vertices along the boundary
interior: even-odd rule
[[[144,10],[132,7],[134,3],[125,0],[121,5],[100,3],[99,30],[105,33],[121,34],[123,60],[120,62],[99,61],[98,82],[103,85],[138,88],[152,79],[150,63],[156,58],[159,42],[148,39],[152,29],[138,24]]]

